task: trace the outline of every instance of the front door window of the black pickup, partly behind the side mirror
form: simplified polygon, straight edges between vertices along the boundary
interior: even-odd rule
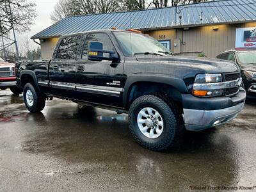
[[[105,33],[90,33],[86,36],[84,46],[83,46],[82,59],[84,60],[87,60],[88,44],[90,41],[102,42],[103,50],[115,51],[115,47],[112,44],[108,35],[106,35]]]

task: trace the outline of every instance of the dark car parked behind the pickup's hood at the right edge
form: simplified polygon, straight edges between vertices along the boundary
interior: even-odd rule
[[[248,98],[256,99],[256,49],[225,51],[216,58],[234,61],[241,68],[243,86]]]

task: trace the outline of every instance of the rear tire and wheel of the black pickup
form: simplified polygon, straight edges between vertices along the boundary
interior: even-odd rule
[[[31,113],[39,113],[45,107],[45,96],[36,92],[33,84],[27,83],[23,89],[23,98],[26,108]]]

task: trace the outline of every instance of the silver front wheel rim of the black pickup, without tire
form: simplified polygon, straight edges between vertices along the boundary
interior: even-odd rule
[[[141,109],[138,113],[137,123],[142,134],[150,139],[158,138],[164,129],[162,116],[153,108]]]

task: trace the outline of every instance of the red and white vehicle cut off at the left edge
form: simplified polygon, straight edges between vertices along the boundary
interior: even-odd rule
[[[15,94],[22,92],[16,85],[15,65],[4,61],[4,59],[0,57],[0,89],[5,90],[6,88],[10,88]]]

